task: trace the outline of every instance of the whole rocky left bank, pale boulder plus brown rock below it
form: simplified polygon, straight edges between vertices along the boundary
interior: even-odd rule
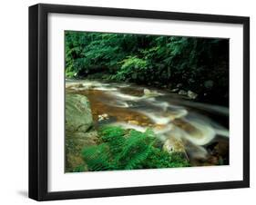
[[[98,143],[87,97],[66,93],[66,172],[87,171],[81,151]]]

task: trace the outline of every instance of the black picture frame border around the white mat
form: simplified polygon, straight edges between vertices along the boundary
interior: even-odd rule
[[[100,190],[47,190],[47,16],[50,13],[102,15],[148,19],[243,25],[243,180],[156,185]],[[29,7],[29,198],[67,200],[191,190],[250,187],[250,18],[230,15],[200,15],[76,5]]]

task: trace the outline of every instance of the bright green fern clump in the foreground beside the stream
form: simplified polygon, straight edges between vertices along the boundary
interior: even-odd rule
[[[187,167],[181,153],[161,150],[160,142],[150,130],[137,132],[120,127],[106,127],[100,132],[102,143],[83,149],[88,171],[114,171]]]

